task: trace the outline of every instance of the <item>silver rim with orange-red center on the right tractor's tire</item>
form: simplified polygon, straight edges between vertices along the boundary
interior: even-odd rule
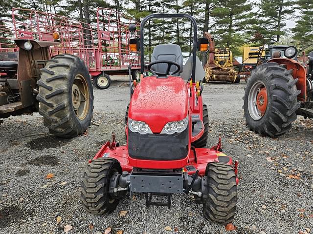
[[[268,106],[268,93],[262,81],[255,82],[248,95],[248,111],[254,120],[260,120]]]

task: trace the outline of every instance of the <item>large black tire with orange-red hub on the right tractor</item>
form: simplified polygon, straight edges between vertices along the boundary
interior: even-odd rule
[[[298,79],[291,73],[292,70],[273,62],[261,64],[251,72],[243,98],[246,125],[251,131],[277,137],[291,129],[300,106]]]

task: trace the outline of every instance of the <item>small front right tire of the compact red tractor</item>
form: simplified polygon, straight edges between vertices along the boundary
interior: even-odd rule
[[[236,175],[233,167],[222,162],[208,163],[208,197],[203,205],[204,218],[218,224],[234,219],[237,207]]]

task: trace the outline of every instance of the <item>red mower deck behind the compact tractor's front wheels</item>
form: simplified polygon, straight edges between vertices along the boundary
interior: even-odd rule
[[[208,163],[211,162],[224,162],[229,165],[233,165],[233,160],[231,157],[226,156],[224,153],[215,150],[216,146],[211,149],[207,148],[192,148],[190,151],[190,157],[187,165],[183,168],[184,171],[188,172],[188,175],[194,174],[197,170],[199,170],[199,176],[204,176],[205,169]],[[128,158],[128,147],[127,145],[115,146],[115,143],[111,143],[107,141],[98,153],[93,157],[93,159],[97,158],[115,158],[121,164],[121,168],[123,171],[132,172],[133,167],[129,164]],[[168,161],[151,161],[156,165],[157,163],[167,163]]]

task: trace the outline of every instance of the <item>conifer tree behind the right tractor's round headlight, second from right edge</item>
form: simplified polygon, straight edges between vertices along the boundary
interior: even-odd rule
[[[258,4],[259,26],[255,29],[268,43],[279,42],[280,37],[285,35],[286,20],[290,19],[293,13],[292,5],[292,0],[261,0]]]

